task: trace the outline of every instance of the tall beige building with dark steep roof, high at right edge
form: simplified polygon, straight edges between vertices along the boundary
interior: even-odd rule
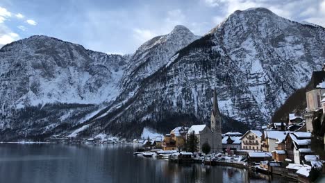
[[[325,67],[322,71],[314,71],[310,82],[306,87],[307,112],[303,114],[306,119],[307,132],[313,132],[313,118],[315,111],[322,109],[325,111]],[[323,101],[323,102],[321,102]]]

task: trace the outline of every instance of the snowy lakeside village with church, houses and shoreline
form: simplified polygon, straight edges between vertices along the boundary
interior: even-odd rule
[[[210,127],[179,126],[142,143],[134,155],[168,159],[176,163],[234,166],[295,182],[324,177],[325,67],[314,71],[306,87],[306,112],[288,114],[288,121],[268,123],[262,129],[222,134],[222,119],[214,91]],[[315,140],[316,139],[316,140]],[[316,142],[313,142],[316,141]],[[317,143],[317,149],[312,143]]]

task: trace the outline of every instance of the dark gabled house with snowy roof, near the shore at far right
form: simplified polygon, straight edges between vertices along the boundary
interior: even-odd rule
[[[288,133],[285,137],[288,158],[293,159],[295,164],[301,164],[305,155],[313,154],[310,149],[310,139],[310,132],[293,132]]]

